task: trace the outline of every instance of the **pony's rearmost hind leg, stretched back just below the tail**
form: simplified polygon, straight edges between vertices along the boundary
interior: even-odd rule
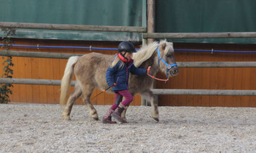
[[[80,97],[80,95],[82,95],[82,89],[79,86],[75,86],[74,91],[72,92],[72,94],[69,97],[69,100],[67,101],[66,108],[62,113],[62,117],[65,120],[70,120],[70,113],[71,113],[72,107],[74,105],[74,102],[77,100],[78,97]]]

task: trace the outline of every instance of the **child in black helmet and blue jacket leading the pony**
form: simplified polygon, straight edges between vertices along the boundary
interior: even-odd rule
[[[115,121],[111,121],[111,116],[122,123],[126,123],[121,118],[121,113],[133,100],[128,87],[129,72],[137,75],[147,74],[147,69],[140,69],[133,65],[132,53],[136,53],[137,51],[132,43],[128,41],[121,42],[118,46],[118,51],[119,53],[106,71],[106,82],[109,87],[112,87],[116,98],[114,105],[111,106],[103,117],[103,123],[116,123]],[[126,99],[121,102],[123,97]]]

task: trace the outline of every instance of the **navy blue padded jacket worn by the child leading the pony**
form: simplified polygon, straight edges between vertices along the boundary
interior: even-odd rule
[[[114,85],[114,83],[116,83],[116,85],[112,87],[113,91],[129,89],[128,81],[130,72],[137,75],[147,74],[147,69],[140,69],[135,67],[133,60],[119,68],[121,62],[123,61],[119,61],[113,68],[108,67],[106,71],[106,82],[108,83],[108,86],[111,87]]]

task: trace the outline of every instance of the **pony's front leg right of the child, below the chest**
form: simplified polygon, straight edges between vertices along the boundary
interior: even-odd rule
[[[155,97],[155,95],[153,95],[153,92],[151,92],[150,89],[148,89],[145,92],[140,93],[143,97],[145,97],[146,100],[150,101],[151,103],[151,118],[154,118],[155,121],[159,121],[159,112],[158,112],[158,101]]]

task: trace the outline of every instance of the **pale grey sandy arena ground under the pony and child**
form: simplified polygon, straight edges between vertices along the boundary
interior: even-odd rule
[[[102,119],[109,105],[95,105]],[[74,105],[1,104],[0,152],[256,152],[256,108],[130,106],[128,123],[103,124]]]

